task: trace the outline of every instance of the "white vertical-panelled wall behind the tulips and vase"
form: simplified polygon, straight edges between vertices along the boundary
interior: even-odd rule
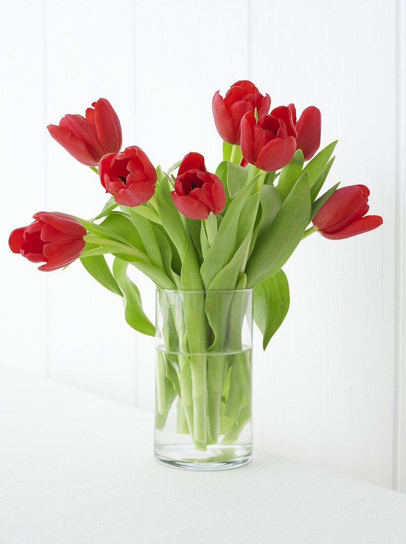
[[[93,217],[106,200],[47,124],[106,97],[125,145],[164,168],[199,151],[213,171],[212,95],[249,78],[273,106],[321,109],[322,145],[340,140],[330,184],[366,184],[384,217],[342,242],[312,236],[288,263],[290,314],[266,353],[256,336],[256,446],[406,492],[402,0],[1,6],[3,362],[152,410],[153,339],[120,299],[80,263],[36,271],[7,237],[41,209]]]

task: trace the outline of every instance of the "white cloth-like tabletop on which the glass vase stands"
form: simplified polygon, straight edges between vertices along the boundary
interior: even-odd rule
[[[186,472],[152,415],[0,367],[1,544],[406,542],[406,495],[255,452]]]

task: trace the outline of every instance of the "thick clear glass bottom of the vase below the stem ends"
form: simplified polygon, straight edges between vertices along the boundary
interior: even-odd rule
[[[200,452],[190,446],[155,443],[155,459],[162,465],[188,471],[225,471],[247,465],[253,456],[251,445],[216,444]]]

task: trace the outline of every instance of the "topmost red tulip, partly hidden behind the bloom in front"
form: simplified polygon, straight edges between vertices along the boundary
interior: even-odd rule
[[[237,81],[224,98],[217,91],[213,96],[212,108],[218,133],[229,144],[239,145],[243,115],[254,112],[255,108],[259,116],[264,115],[269,112],[269,106],[269,96],[261,95],[250,81]]]

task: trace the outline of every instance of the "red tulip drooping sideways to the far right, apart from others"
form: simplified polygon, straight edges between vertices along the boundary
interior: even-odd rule
[[[317,212],[313,226],[324,238],[341,240],[372,231],[382,225],[379,215],[366,215],[370,190],[365,185],[338,189]]]

